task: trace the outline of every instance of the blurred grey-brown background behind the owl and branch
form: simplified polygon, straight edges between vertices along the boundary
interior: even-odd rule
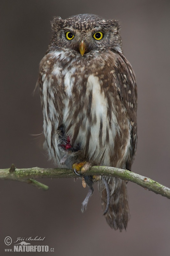
[[[1,0],[0,168],[53,167],[41,148],[40,96],[33,96],[39,62],[48,48],[50,20],[79,13],[118,19],[124,55],[138,85],[138,148],[132,171],[170,187],[170,1]],[[53,255],[170,255],[170,200],[128,182],[131,220],[112,230],[102,216],[97,187],[81,213],[81,180],[43,179],[44,192],[0,180],[0,254],[4,238],[45,236]],[[13,252],[14,253],[14,252]],[[18,255],[18,253],[15,253]],[[19,255],[24,254],[20,252]],[[38,252],[27,255],[39,255]],[[43,255],[48,255],[44,253]]]

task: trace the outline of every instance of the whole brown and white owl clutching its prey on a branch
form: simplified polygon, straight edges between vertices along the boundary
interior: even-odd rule
[[[98,183],[106,221],[122,231],[130,217],[127,182],[86,175],[92,165],[131,170],[137,148],[137,85],[119,23],[79,14],[51,25],[37,82],[48,155],[56,167],[83,175],[89,191],[82,212]]]

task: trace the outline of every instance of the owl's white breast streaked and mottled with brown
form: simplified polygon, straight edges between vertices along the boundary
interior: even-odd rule
[[[98,61],[55,61],[55,109],[57,124],[63,125],[73,147],[80,146],[82,157],[95,165],[123,167],[130,124],[113,86],[117,83],[114,61],[110,63],[106,56]]]

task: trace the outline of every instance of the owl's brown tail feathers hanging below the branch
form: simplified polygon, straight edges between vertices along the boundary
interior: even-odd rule
[[[107,191],[106,182],[108,183]],[[108,225],[111,228],[120,231],[126,229],[130,219],[127,185],[125,180],[119,178],[104,176],[99,181],[99,192],[101,198],[101,206]],[[108,195],[110,192],[110,204],[108,205]],[[106,209],[108,208],[107,212]],[[106,213],[105,213],[106,212]]]

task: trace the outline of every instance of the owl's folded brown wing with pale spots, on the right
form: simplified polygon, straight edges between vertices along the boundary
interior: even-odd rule
[[[127,115],[131,124],[131,150],[130,157],[126,163],[126,169],[131,170],[137,149],[137,84],[135,73],[122,53],[118,53],[117,67],[118,74],[117,92],[126,108]]]

